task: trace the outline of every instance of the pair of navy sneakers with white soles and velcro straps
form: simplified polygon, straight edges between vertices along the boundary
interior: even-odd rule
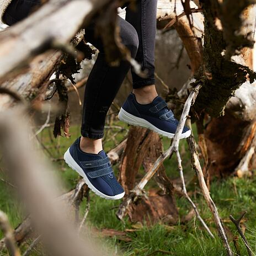
[[[168,138],[174,137],[179,123],[161,97],[157,96],[150,104],[140,104],[133,93],[125,101],[118,117],[130,125],[146,127]],[[180,138],[187,138],[190,134],[188,127],[184,127]],[[85,179],[95,194],[110,200],[121,199],[125,192],[115,178],[106,153],[103,150],[98,154],[81,151],[80,139],[66,151],[65,162]]]

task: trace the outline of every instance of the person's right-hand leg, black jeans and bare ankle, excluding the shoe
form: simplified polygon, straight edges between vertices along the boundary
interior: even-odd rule
[[[157,0],[139,0],[136,11],[126,8],[126,20],[138,33],[139,46],[135,60],[142,70],[147,70],[147,78],[138,76],[132,70],[133,93],[138,103],[151,103],[157,97],[154,79],[154,46],[156,41]]]

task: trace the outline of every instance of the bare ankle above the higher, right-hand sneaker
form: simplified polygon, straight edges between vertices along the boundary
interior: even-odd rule
[[[157,90],[154,84],[150,86],[143,86],[141,88],[134,89],[132,93],[135,94],[135,98],[140,104],[148,104],[153,101],[154,98],[157,97]]]

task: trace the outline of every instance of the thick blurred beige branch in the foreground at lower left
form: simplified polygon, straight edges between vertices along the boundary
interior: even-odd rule
[[[52,167],[39,156],[29,140],[31,130],[24,120],[23,110],[14,108],[1,114],[0,145],[10,180],[17,185],[44,247],[50,255],[56,256],[105,255],[95,249],[92,241],[77,239],[77,231],[66,216],[67,205],[63,200],[56,200],[60,190]]]

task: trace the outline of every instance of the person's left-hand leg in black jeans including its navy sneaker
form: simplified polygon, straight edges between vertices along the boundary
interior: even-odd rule
[[[134,27],[119,18],[122,43],[135,57],[138,36]],[[100,50],[97,60],[88,77],[84,95],[82,137],[78,138],[64,154],[65,162],[86,180],[94,193],[105,199],[116,200],[125,191],[115,178],[111,163],[102,150],[102,137],[106,113],[113,102],[130,64],[121,61],[118,67],[106,63],[102,41],[95,39],[94,27],[86,29],[86,40]]]

